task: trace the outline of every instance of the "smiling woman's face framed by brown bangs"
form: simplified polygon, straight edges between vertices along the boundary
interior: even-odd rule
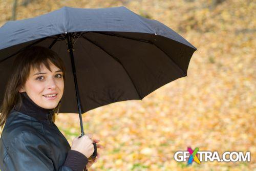
[[[31,69],[25,86],[19,90],[26,92],[28,96],[41,108],[53,109],[58,105],[63,95],[63,73],[50,62],[49,71],[42,65],[41,71]]]

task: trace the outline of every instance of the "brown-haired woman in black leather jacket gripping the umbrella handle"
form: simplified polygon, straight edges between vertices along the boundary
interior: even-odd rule
[[[97,161],[92,134],[67,139],[54,124],[65,82],[65,66],[52,50],[33,46],[15,58],[1,107],[0,169],[75,170]],[[102,148],[102,145],[96,144]]]

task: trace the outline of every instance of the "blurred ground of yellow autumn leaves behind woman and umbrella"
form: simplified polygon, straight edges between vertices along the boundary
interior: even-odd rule
[[[255,1],[0,0],[0,26],[63,6],[125,6],[172,28],[198,49],[187,77],[142,100],[115,102],[83,114],[84,132],[93,133],[104,146],[90,170],[256,169]],[[59,114],[55,124],[70,144],[80,135],[77,114]],[[249,151],[251,161],[176,162],[175,152],[188,146],[219,154]]]

